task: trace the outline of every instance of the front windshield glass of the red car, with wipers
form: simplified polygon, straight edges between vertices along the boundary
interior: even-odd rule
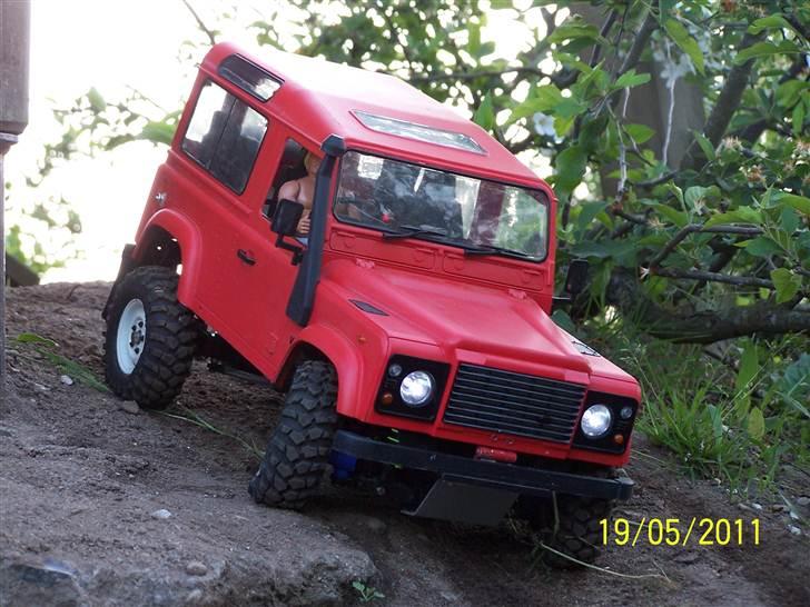
[[[472,253],[545,259],[549,207],[539,190],[349,151],[335,216],[386,237],[438,239]]]

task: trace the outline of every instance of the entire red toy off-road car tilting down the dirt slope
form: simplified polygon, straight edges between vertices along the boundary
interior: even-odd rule
[[[257,501],[299,507],[332,470],[413,515],[524,516],[592,560],[641,395],[549,317],[554,217],[407,83],[217,44],[105,308],[107,380],[165,407],[202,356],[286,391]]]

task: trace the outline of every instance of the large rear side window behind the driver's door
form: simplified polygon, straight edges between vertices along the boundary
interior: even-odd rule
[[[241,193],[253,170],[267,119],[214,82],[197,99],[182,150],[219,181]]]

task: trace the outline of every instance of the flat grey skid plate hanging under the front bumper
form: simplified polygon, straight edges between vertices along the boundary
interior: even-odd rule
[[[403,510],[403,514],[494,527],[501,523],[518,495],[445,476],[433,484],[415,509]]]

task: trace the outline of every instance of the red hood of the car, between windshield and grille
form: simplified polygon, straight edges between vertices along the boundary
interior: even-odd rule
[[[634,381],[593,350],[583,354],[587,348],[524,291],[348,260],[328,263],[322,281],[335,283],[347,299],[385,312],[356,309],[389,338],[451,348],[458,359],[482,365],[512,359]]]

